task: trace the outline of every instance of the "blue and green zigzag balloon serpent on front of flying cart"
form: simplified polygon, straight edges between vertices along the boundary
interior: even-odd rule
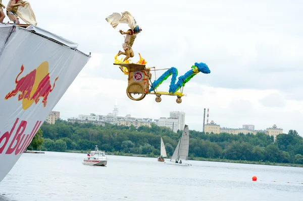
[[[190,81],[196,74],[199,72],[204,74],[211,73],[210,69],[208,68],[207,64],[205,63],[197,63],[195,62],[194,65],[191,66],[191,70],[186,72],[183,76],[180,76],[177,81],[178,70],[175,67],[170,68],[167,70],[160,78],[155,80],[153,84],[150,86],[149,92],[155,91],[168,77],[173,75],[171,83],[169,85],[169,93],[174,94],[177,92],[181,87],[184,87],[185,84]]]

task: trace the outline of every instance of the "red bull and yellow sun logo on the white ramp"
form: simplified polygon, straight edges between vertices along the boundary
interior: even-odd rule
[[[45,107],[47,104],[47,98],[55,88],[55,83],[59,77],[55,79],[53,88],[51,85],[51,77],[48,73],[48,62],[42,62],[37,69],[33,70],[26,76],[20,78],[23,73],[24,66],[21,65],[21,72],[18,74],[15,83],[16,87],[13,91],[9,92],[5,100],[16,96],[18,93],[18,101],[22,100],[22,108],[28,109],[33,103],[37,104],[42,98],[42,104]]]

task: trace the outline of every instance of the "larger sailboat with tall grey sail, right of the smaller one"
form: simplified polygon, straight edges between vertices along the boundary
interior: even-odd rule
[[[188,148],[189,148],[189,129],[188,125],[184,126],[181,139],[178,142],[178,145],[174,151],[170,162],[176,165],[189,165],[188,160]],[[182,161],[184,160],[184,162]]]

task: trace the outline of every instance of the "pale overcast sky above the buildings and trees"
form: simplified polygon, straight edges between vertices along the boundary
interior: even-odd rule
[[[276,124],[284,133],[295,129],[303,136],[301,1],[29,2],[37,26],[91,52],[54,108],[63,119],[106,115],[117,101],[119,116],[158,119],[183,111],[192,130],[203,130],[204,108],[209,108],[209,121],[221,127],[254,124],[255,129],[266,129]],[[105,20],[123,11],[129,11],[142,28],[133,45],[133,62],[140,53],[146,66],[174,66],[178,77],[195,62],[209,66],[210,74],[199,73],[185,85],[181,104],[175,96],[162,96],[160,103],[154,95],[141,101],[127,97],[127,76],[113,61],[124,41],[118,31],[128,27],[114,29]],[[157,71],[157,78],[164,72]],[[154,81],[155,72],[151,73]],[[170,78],[158,90],[168,91],[169,83]]]

